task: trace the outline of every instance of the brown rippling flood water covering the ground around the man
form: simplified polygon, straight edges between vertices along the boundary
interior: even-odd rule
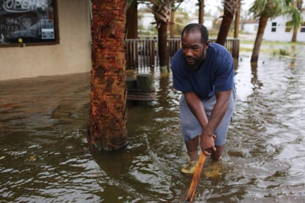
[[[305,202],[304,57],[251,67],[249,56],[224,153],[206,160],[194,202]],[[86,140],[89,73],[0,81],[0,202],[184,202],[181,93],[154,75],[154,105],[128,109],[127,148],[103,153]]]

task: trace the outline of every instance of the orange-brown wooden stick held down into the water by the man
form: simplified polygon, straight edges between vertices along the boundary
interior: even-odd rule
[[[194,173],[194,176],[193,176],[193,180],[192,180],[190,189],[188,190],[188,196],[186,197],[185,203],[192,202],[193,199],[194,199],[195,192],[196,192],[196,187],[197,187],[198,180],[200,178],[201,171],[202,171],[203,164],[204,164],[205,160],[206,160],[206,155],[204,155],[203,151],[201,151],[198,163],[196,165],[196,169],[195,169],[195,173]]]

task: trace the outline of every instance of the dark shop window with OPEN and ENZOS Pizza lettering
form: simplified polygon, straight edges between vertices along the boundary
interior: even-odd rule
[[[0,0],[0,47],[59,44],[56,0]]]

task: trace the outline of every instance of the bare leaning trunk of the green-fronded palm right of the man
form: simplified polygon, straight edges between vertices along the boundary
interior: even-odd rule
[[[258,54],[260,53],[260,45],[262,44],[263,41],[263,35],[267,25],[267,20],[268,20],[267,16],[264,15],[260,16],[260,22],[258,24],[258,30],[253,47],[251,62],[257,62],[258,60]]]

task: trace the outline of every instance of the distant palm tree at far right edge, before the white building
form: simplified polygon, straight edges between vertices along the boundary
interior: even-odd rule
[[[298,28],[303,23],[302,15],[300,14],[300,11],[302,9],[303,0],[296,0],[294,2],[294,5],[290,7],[288,11],[288,15],[291,18],[290,24],[293,28],[293,34],[292,34],[292,42],[296,42],[296,34],[298,32]],[[301,17],[301,18],[300,18]]]

